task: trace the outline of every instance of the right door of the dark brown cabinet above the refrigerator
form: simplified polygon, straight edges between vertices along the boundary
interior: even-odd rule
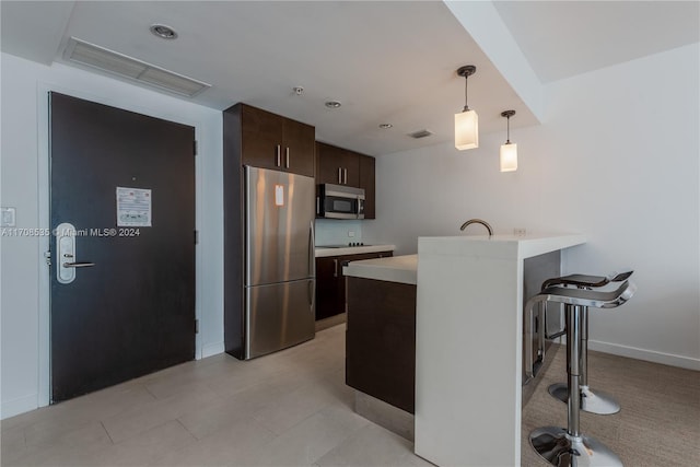
[[[283,170],[313,177],[315,175],[315,128],[289,118],[284,118],[283,126]]]

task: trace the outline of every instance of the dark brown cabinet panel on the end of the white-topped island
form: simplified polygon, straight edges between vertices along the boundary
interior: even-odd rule
[[[416,285],[347,279],[346,383],[413,413]]]

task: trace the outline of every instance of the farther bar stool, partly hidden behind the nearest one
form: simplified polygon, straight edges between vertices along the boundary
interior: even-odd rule
[[[555,285],[572,285],[579,289],[598,289],[607,285],[610,282],[622,282],[629,279],[634,271],[626,271],[621,273],[612,272],[608,276],[586,276],[586,275],[570,275],[560,278],[548,279],[542,283],[542,290]],[[545,302],[545,306],[546,306]],[[547,331],[547,313],[544,314],[545,325],[544,330]],[[581,410],[590,413],[597,415],[612,415],[620,411],[620,405],[612,396],[602,390],[594,390],[588,386],[588,307],[581,307],[581,376],[579,377],[579,387],[581,388]],[[553,336],[559,335],[557,332]],[[547,336],[552,338],[552,336]],[[569,400],[569,385],[567,383],[555,383],[548,388],[549,394],[556,399],[567,404]]]

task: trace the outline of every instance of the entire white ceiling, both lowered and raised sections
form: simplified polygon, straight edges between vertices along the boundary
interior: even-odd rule
[[[698,42],[700,4],[494,2],[542,83]],[[2,50],[50,65],[73,36],[212,84],[194,102],[245,102],[316,127],[319,140],[378,155],[453,139],[464,79],[482,133],[537,118],[442,1],[1,2]],[[149,26],[175,28],[176,40]],[[295,95],[293,86],[304,87]],[[324,103],[337,100],[339,109]],[[390,122],[382,130],[380,124]],[[415,140],[420,129],[433,136]]]

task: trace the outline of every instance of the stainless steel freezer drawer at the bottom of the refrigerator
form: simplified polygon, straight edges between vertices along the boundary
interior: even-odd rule
[[[315,285],[303,279],[246,288],[246,360],[314,338]]]

